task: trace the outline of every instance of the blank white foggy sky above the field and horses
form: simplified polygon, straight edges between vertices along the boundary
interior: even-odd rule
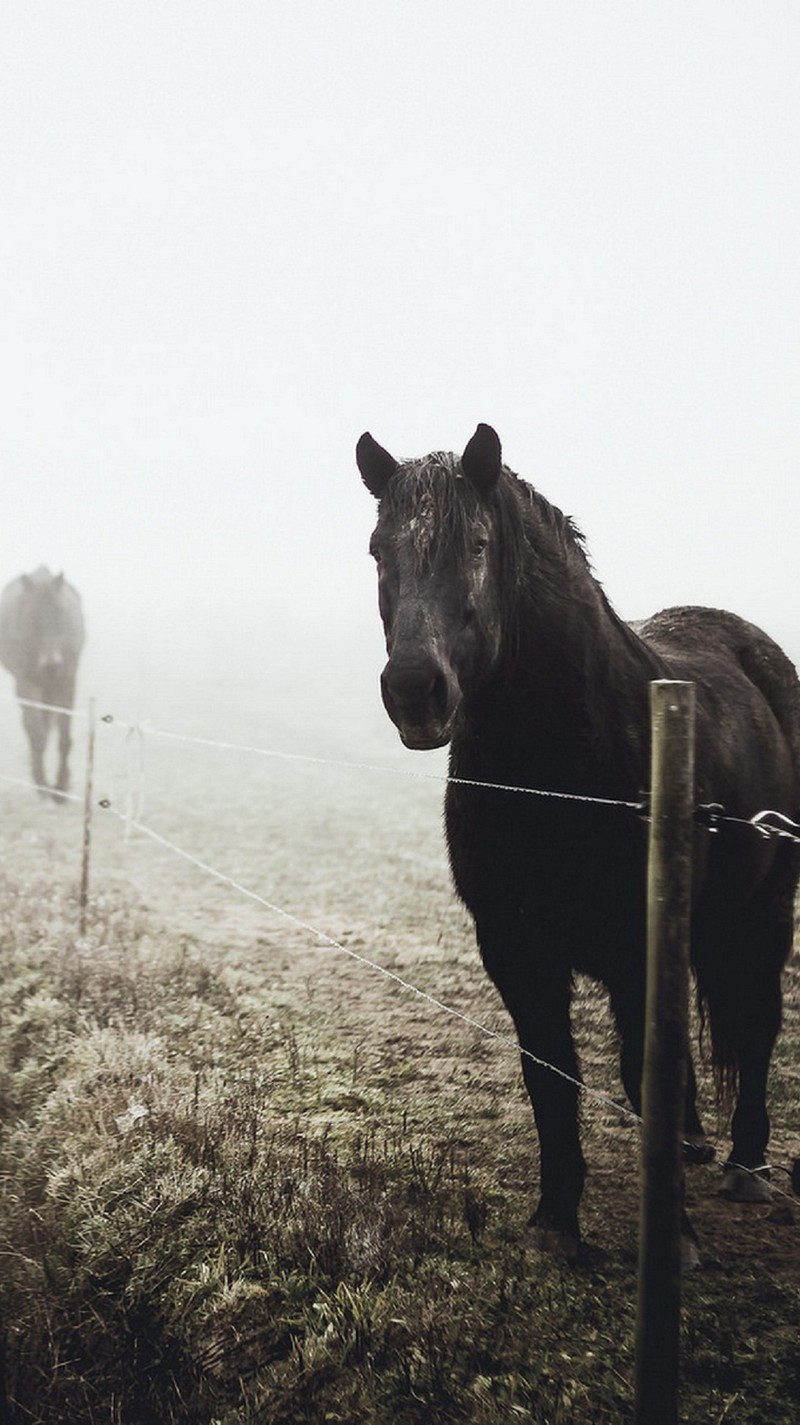
[[[354,443],[478,420],[622,614],[800,658],[794,0],[4,0],[0,81],[0,580],[96,665],[378,664]]]

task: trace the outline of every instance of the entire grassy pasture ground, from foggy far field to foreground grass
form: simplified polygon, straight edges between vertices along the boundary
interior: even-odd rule
[[[449,886],[443,788],[404,775],[443,774],[443,755],[399,748],[374,671],[338,703],[324,683],[294,701],[280,681],[193,688],[141,711],[327,765],[148,732],[138,781],[138,737],[100,725],[96,799],[113,809],[94,819],[83,940],[80,808],[0,782],[0,1399],[14,1425],[629,1418],[636,1124],[583,1100],[583,1255],[538,1254],[515,1049],[347,955],[511,1035]],[[98,714],[128,715],[113,704]],[[3,700],[0,772],[24,778],[17,724]],[[76,789],[81,765],[78,724]],[[295,919],[125,835],[131,775],[147,826]],[[588,1084],[623,1102],[605,998],[583,980],[576,1035]],[[799,1045],[794,959],[770,1083],[777,1164],[800,1154]],[[706,1076],[700,1097],[713,1137]],[[689,1176],[703,1270],[684,1282],[682,1419],[789,1425],[797,1208],[726,1204],[719,1176]]]

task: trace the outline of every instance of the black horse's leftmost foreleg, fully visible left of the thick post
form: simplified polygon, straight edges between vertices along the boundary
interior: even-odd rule
[[[479,928],[483,962],[515,1022],[522,1076],[540,1151],[540,1200],[530,1226],[539,1245],[572,1260],[586,1163],[578,1127],[579,1067],[570,1027],[568,966],[538,963],[530,946]]]

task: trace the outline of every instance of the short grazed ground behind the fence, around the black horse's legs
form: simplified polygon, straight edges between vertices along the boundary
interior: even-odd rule
[[[4,724],[10,755],[3,770],[19,777],[21,740],[10,714]],[[240,740],[247,742],[250,732],[242,725]],[[368,1097],[371,1083],[391,1082],[409,1112],[422,1117],[425,1102],[435,1102],[459,1141],[493,1161],[498,1191],[509,1208],[513,1204],[513,1214],[529,1210],[536,1183],[530,1110],[508,1016],[449,886],[441,785],[401,775],[406,764],[401,768],[399,761],[398,775],[381,777],[150,732],[134,738],[120,725],[103,727],[98,742],[94,801],[108,799],[111,807],[96,809],[93,819],[90,893],[135,903],[170,936],[191,938],[210,959],[251,976],[277,1013],[305,1025],[318,1052],[352,1064],[354,1094]],[[379,754],[386,761],[384,744]],[[372,755],[369,745],[364,761]],[[145,772],[131,778],[131,761],[140,760]],[[434,765],[434,775],[441,771]],[[78,787],[81,775],[78,748]],[[131,809],[158,836],[261,901],[127,825]],[[44,875],[77,886],[78,804],[53,807],[20,785],[0,784],[0,839],[9,874],[31,885]],[[483,1025],[486,1033],[432,1000]],[[602,992],[588,982],[578,986],[575,1019],[588,1086],[623,1103],[613,1026]],[[794,959],[771,1076],[770,1150],[784,1167],[800,1156],[799,1040]],[[345,1100],[347,1094],[338,1107],[322,1106],[321,1114],[347,1112]],[[702,1102],[709,1133],[724,1154],[726,1124],[707,1079]],[[588,1257],[622,1253],[633,1260],[636,1124],[590,1096],[583,1124]],[[770,1206],[732,1207],[717,1197],[717,1166],[690,1171],[689,1203],[709,1270],[724,1271],[746,1257],[753,1277],[769,1271],[800,1282],[796,1203],[780,1170],[773,1181]]]

